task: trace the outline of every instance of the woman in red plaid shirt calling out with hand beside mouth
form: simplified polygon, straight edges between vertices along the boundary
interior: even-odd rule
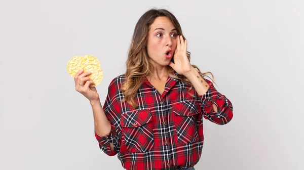
[[[204,142],[203,117],[226,124],[233,107],[189,60],[176,18],[153,9],[138,20],[127,70],[110,82],[103,107],[89,87],[90,72],[75,75],[75,89],[92,105],[95,137],[105,154],[118,154],[126,169],[194,169]]]

